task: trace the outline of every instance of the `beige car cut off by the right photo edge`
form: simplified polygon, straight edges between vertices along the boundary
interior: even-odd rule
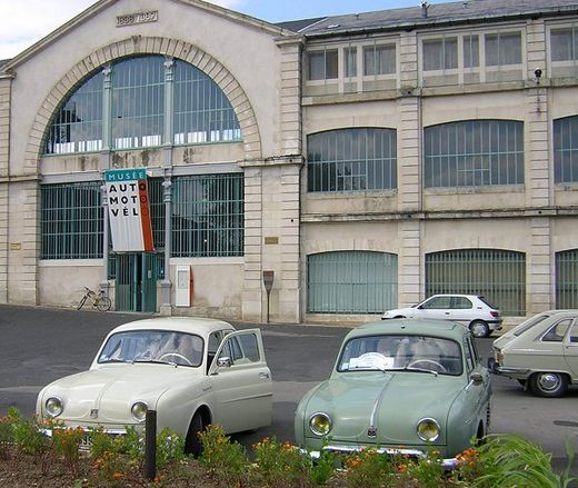
[[[560,397],[578,384],[578,310],[538,313],[492,343],[488,367],[539,397]]]

